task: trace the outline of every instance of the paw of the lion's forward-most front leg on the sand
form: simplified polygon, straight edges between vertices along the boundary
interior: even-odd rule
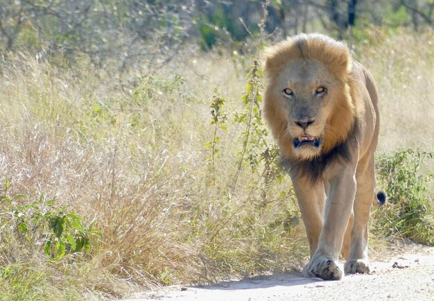
[[[309,262],[303,269],[303,277],[319,277],[324,280],[342,279],[342,266],[338,262],[320,258]]]

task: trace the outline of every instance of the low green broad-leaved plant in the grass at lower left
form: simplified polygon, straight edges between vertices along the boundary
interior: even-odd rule
[[[89,252],[94,221],[86,225],[78,214],[67,212],[68,207],[55,207],[54,200],[38,200],[20,204],[18,200],[28,198],[24,194],[8,196],[9,181],[3,184],[0,194],[0,209],[7,218],[0,220],[0,227],[9,226],[16,239],[26,243],[28,248],[44,246],[44,253],[59,261],[65,255]]]

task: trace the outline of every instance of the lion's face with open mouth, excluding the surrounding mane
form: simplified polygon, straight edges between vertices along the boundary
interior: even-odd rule
[[[330,130],[327,121],[335,105],[333,95],[339,82],[327,67],[315,60],[291,60],[272,80],[268,93],[274,94],[286,139],[299,160],[318,157],[324,135]]]

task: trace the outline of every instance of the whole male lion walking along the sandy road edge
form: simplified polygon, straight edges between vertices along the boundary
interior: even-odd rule
[[[379,109],[371,74],[342,42],[302,34],[266,51],[264,115],[288,166],[311,259],[304,277],[369,273]],[[385,193],[376,194],[379,203]]]

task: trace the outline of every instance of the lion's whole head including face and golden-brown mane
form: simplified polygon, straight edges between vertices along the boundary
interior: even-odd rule
[[[297,35],[266,51],[264,114],[284,157],[312,160],[345,141],[354,126],[351,56],[324,35]]]

